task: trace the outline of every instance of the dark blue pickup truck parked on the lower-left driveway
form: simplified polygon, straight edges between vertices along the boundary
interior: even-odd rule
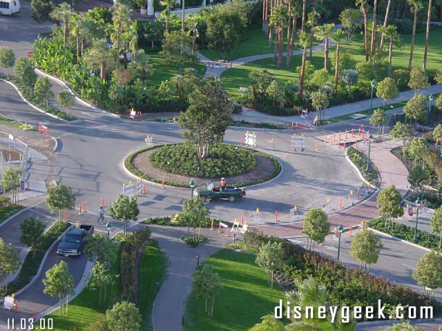
[[[78,257],[93,232],[93,225],[79,225],[79,228],[66,232],[58,245],[57,254],[61,257]]]

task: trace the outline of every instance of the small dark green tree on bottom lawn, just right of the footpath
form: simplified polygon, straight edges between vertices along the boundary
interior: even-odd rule
[[[213,307],[215,305],[215,294],[221,290],[221,279],[218,273],[213,271],[210,264],[204,263],[202,268],[198,269],[193,275],[193,292],[197,297],[205,299],[204,312],[210,317],[213,316]],[[212,299],[209,306],[209,299]]]

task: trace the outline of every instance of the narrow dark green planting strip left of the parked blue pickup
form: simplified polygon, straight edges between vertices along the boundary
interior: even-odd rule
[[[52,227],[43,234],[40,244],[37,246],[37,252],[35,257],[32,255],[32,250],[26,254],[26,257],[21,265],[21,269],[17,277],[11,281],[8,285],[8,294],[12,294],[28,285],[32,277],[37,274],[39,270],[41,260],[43,260],[44,254],[50,248],[50,245],[59,237],[60,234],[68,228],[70,223],[61,223],[61,225],[55,223]]]

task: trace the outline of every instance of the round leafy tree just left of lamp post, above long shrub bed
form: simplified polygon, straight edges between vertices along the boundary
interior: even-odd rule
[[[330,232],[330,223],[324,210],[311,208],[305,214],[301,232],[307,236],[307,248],[310,250],[314,250],[314,243],[323,243]]]

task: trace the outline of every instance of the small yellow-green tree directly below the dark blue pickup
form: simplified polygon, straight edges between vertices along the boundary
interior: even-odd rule
[[[61,261],[46,271],[46,279],[43,279],[44,292],[51,297],[60,298],[60,315],[68,312],[68,295],[74,294],[74,282],[69,272],[68,264]],[[65,310],[66,302],[66,310]]]

